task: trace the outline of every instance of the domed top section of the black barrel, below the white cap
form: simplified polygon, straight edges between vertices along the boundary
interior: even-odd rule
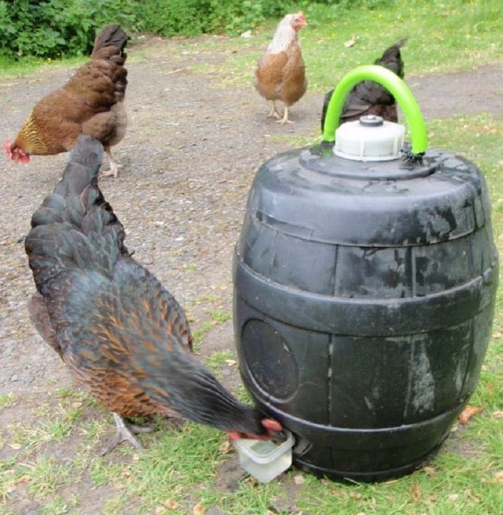
[[[375,247],[461,238],[490,217],[482,175],[453,153],[429,149],[422,163],[361,163],[322,145],[263,163],[247,211],[298,238]]]

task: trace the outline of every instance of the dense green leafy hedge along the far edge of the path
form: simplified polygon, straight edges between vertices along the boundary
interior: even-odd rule
[[[0,0],[0,56],[88,54],[96,32],[109,23],[162,36],[237,35],[280,17],[288,6],[282,0]]]

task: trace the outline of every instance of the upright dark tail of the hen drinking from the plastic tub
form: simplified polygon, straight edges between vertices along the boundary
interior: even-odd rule
[[[79,136],[62,179],[32,217],[25,249],[41,294],[60,274],[90,266],[106,273],[127,252],[123,226],[97,187],[102,156],[97,140]]]

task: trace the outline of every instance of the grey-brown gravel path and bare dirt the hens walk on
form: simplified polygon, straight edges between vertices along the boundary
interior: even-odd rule
[[[219,74],[193,69],[201,60],[218,64],[226,55],[180,54],[178,44],[157,41],[145,60],[128,64],[130,125],[114,151],[123,170],[100,187],[125,226],[128,248],[188,308],[197,328],[207,320],[206,308],[232,310],[233,246],[257,167],[290,149],[289,137],[317,133],[323,95],[308,91],[291,109],[295,123],[278,125],[266,118],[266,102],[251,83],[223,85]],[[2,79],[0,139],[13,139],[34,103],[69,74],[59,69]],[[503,114],[502,77],[503,63],[406,81],[425,118],[450,118]],[[34,157],[29,165],[0,160],[0,394],[15,399],[0,411],[0,460],[15,452],[5,445],[4,428],[32,420],[51,390],[71,385],[59,357],[29,322],[26,304],[34,285],[22,243],[32,213],[52,191],[66,159]],[[205,335],[201,353],[226,348],[233,349],[230,321]],[[236,368],[223,371],[230,385],[239,380]],[[97,513],[92,495],[88,501],[82,513]],[[10,508],[36,513],[36,504],[15,493]]]

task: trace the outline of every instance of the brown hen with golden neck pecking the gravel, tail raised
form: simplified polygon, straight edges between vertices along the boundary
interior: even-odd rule
[[[43,97],[14,142],[6,142],[8,157],[28,163],[30,155],[66,152],[85,134],[98,139],[109,156],[110,170],[103,174],[117,177],[119,166],[112,158],[111,146],[123,139],[128,125],[124,105],[127,42],[127,34],[117,25],[104,27],[96,36],[92,59],[62,88]]]

